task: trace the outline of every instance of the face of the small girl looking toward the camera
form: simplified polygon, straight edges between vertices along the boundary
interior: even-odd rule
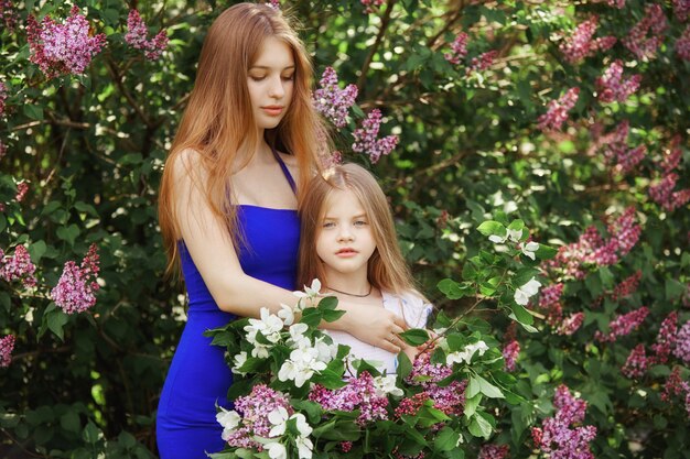
[[[324,263],[326,278],[343,274],[366,277],[375,250],[374,232],[359,199],[351,190],[333,190],[316,233],[316,253]]]

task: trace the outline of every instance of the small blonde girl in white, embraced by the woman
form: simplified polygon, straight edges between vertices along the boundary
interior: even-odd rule
[[[427,324],[431,305],[414,285],[396,237],[384,192],[364,167],[344,164],[314,176],[300,205],[300,285],[319,278],[322,293],[357,302],[375,313],[385,308],[411,328]],[[337,343],[359,359],[396,372],[396,354],[363,342],[347,331],[330,331]],[[410,360],[416,349],[391,332],[388,340]]]

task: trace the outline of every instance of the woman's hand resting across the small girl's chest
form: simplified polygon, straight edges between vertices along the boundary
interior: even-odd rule
[[[409,327],[397,314],[382,307],[349,302],[339,303],[338,308],[347,312],[338,320],[338,328],[358,340],[392,353],[399,353],[407,346],[397,334]]]

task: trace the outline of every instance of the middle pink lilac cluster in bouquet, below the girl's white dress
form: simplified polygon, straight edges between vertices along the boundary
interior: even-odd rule
[[[359,409],[357,424],[388,419],[388,398],[376,394],[374,378],[363,371],[357,378],[348,378],[347,385],[336,390],[327,390],[315,384],[309,393],[309,400],[316,402],[326,411],[352,412]]]

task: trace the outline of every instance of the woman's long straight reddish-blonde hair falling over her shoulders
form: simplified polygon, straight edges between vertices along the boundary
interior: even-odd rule
[[[247,77],[263,41],[271,36],[290,47],[295,73],[290,107],[274,129],[266,130],[265,139],[270,146],[278,146],[297,157],[299,184],[305,184],[320,168],[319,149],[323,147],[327,133],[311,102],[313,69],[302,42],[277,9],[239,3],[225,10],[214,21],[204,41],[194,89],[163,172],[159,220],[169,256],[169,272],[177,261],[177,241],[181,239],[173,183],[175,165],[185,164],[193,185],[204,193],[213,212],[225,221],[233,243],[237,247],[241,240],[229,184],[238,168],[238,152],[254,152],[261,141],[251,110]],[[179,155],[186,149],[198,153],[201,161],[193,164],[203,167],[204,175],[190,167],[191,162],[179,161],[183,160]],[[301,188],[298,197],[303,195]]]

